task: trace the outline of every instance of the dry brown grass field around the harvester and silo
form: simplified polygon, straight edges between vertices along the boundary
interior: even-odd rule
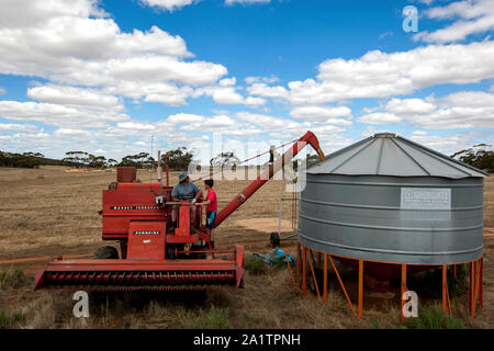
[[[175,183],[177,174],[171,174]],[[139,171],[143,182],[154,174]],[[71,317],[74,302],[66,291],[33,292],[36,270],[49,256],[91,257],[101,240],[101,191],[115,172],[66,172],[59,167],[0,169],[0,328],[396,328],[400,301],[366,290],[363,318],[356,318],[329,278],[326,308],[314,297],[301,297],[291,286],[287,269],[267,268],[262,274],[246,273],[245,288],[210,292],[197,303],[190,294],[91,295],[90,318]],[[249,181],[217,182],[220,207]],[[280,181],[269,181],[216,230],[217,248],[246,247],[269,252],[269,233],[278,228]],[[282,231],[292,233],[291,206],[285,203]],[[494,180],[484,186],[484,308],[468,317],[467,296],[452,301],[453,315],[470,328],[494,327]],[[294,256],[294,242],[282,247]],[[8,284],[12,272],[19,280]],[[356,301],[356,274],[341,268],[350,297]],[[24,276],[24,278],[22,278]],[[397,286],[392,286],[397,292]],[[392,294],[393,295],[393,294]],[[420,301],[439,305],[439,299]]]

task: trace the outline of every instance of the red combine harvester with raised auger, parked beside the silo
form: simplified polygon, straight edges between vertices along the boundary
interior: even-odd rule
[[[317,137],[307,132],[217,214],[215,225],[218,226],[246,202],[306,144],[311,144],[324,159]],[[171,190],[172,186],[165,186],[160,181],[141,183],[136,180],[135,168],[119,168],[117,182],[103,191],[101,213],[103,240],[120,242],[120,258],[115,248],[104,247],[98,250],[98,259],[54,259],[36,274],[34,288],[160,291],[240,287],[244,247],[213,250],[202,225],[201,207],[191,228],[189,207],[193,204],[172,202]],[[173,205],[179,206],[178,227],[175,229],[170,227]]]

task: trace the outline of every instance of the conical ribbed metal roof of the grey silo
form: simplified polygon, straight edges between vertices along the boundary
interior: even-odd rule
[[[461,179],[487,173],[392,133],[378,133],[329,155],[310,174],[444,177]]]

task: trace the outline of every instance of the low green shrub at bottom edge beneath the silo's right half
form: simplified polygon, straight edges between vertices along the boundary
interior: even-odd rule
[[[465,329],[463,322],[454,317],[446,316],[440,307],[424,307],[418,317],[407,318],[402,329]]]

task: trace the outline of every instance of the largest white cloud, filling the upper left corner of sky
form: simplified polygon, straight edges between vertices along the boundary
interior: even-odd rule
[[[0,73],[171,105],[186,103],[193,92],[188,86],[214,84],[227,73],[222,65],[191,59],[180,36],[157,26],[123,32],[98,3],[3,0]],[[147,95],[156,87],[167,91]]]

